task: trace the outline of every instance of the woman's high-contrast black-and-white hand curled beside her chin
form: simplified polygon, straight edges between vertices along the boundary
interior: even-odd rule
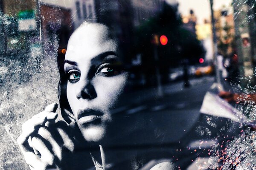
[[[70,163],[74,142],[67,124],[55,123],[57,108],[56,103],[48,105],[22,125],[23,132],[17,142],[31,170],[69,169],[66,163]]]

